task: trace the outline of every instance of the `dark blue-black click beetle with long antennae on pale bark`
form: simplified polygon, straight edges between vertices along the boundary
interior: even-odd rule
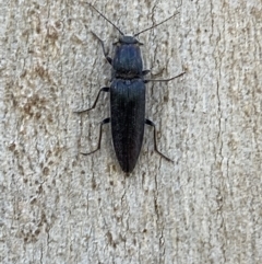
[[[92,32],[93,35],[99,41],[103,53],[107,61],[112,67],[111,85],[104,87],[99,90],[91,108],[78,111],[76,113],[84,113],[95,108],[100,92],[110,92],[111,116],[100,123],[97,148],[92,152],[82,154],[87,156],[100,149],[102,127],[104,124],[111,123],[112,144],[117,159],[121,169],[124,172],[130,173],[133,171],[138,161],[144,137],[144,125],[146,124],[153,126],[154,128],[154,150],[166,160],[171,161],[169,158],[158,151],[156,146],[155,124],[145,118],[145,83],[148,81],[167,82],[184,74],[186,72],[181,72],[176,77],[165,80],[144,80],[144,76],[147,74],[150,70],[143,70],[143,61],[140,50],[140,46],[143,44],[136,39],[136,36],[145,31],[152,30],[165,23],[167,20],[171,19],[178,13],[172,14],[165,21],[143,30],[133,36],[128,36],[124,35],[95,7],[93,7],[91,3],[87,4],[107,22],[109,22],[121,34],[121,36],[117,43],[114,43],[115,55],[114,58],[110,58],[105,49],[104,42]]]

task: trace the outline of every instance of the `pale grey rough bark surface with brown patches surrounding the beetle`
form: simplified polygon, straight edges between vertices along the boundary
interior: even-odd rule
[[[120,170],[104,128],[118,32],[79,1],[3,1],[1,263],[262,263],[262,3],[96,1],[124,33],[141,34],[157,125],[133,173]]]

